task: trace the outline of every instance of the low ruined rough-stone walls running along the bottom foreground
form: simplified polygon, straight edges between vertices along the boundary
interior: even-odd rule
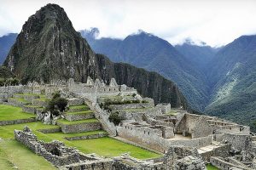
[[[25,144],[30,150],[44,156],[59,169],[131,169],[131,170],[183,170],[197,169],[206,170],[204,161],[197,150],[190,150],[180,146],[172,146],[166,155],[160,159],[142,161],[137,160],[128,154],[111,158],[103,158],[95,154],[83,154],[79,150],[65,146],[59,141],[44,143],[38,141],[37,136],[32,133],[29,127],[23,131],[15,130],[15,139]]]

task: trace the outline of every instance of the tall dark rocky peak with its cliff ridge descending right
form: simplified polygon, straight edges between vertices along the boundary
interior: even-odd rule
[[[67,79],[85,82],[87,77],[137,88],[144,96],[174,107],[187,107],[177,86],[154,72],[113,63],[95,54],[80,33],[75,31],[64,9],[48,4],[33,14],[22,27],[4,65],[23,82],[29,80]]]

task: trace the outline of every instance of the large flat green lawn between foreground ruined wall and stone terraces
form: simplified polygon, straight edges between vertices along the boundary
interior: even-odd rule
[[[84,140],[73,140],[68,141],[63,139],[64,137],[71,136],[80,136],[88,135],[92,133],[103,133],[104,131],[93,131],[86,133],[40,133],[37,129],[42,128],[53,128],[57,126],[53,125],[44,125],[42,122],[30,122],[26,124],[17,124],[17,125],[8,125],[0,126],[0,138],[3,139],[14,139],[14,129],[23,129],[27,125],[32,128],[33,133],[38,136],[38,139],[44,140],[45,142],[50,142],[52,140],[60,140],[67,144],[68,146],[73,146],[79,149],[84,153],[96,153],[100,156],[119,156],[122,153],[130,152],[131,156],[134,156],[138,159],[149,159],[154,157],[159,157],[159,154],[156,154],[149,150],[144,150],[137,146],[131,144],[125,144],[119,140],[111,138],[100,138],[100,139],[84,139]]]

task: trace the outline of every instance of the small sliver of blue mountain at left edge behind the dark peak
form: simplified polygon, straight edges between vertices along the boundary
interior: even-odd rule
[[[0,65],[3,64],[3,61],[9,53],[9,49],[15,43],[15,39],[18,34],[10,33],[3,37],[0,37]]]

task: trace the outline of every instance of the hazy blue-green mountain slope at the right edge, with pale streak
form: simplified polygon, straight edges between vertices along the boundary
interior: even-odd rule
[[[208,114],[248,124],[256,131],[256,36],[242,36],[222,48],[209,65],[212,99]]]

